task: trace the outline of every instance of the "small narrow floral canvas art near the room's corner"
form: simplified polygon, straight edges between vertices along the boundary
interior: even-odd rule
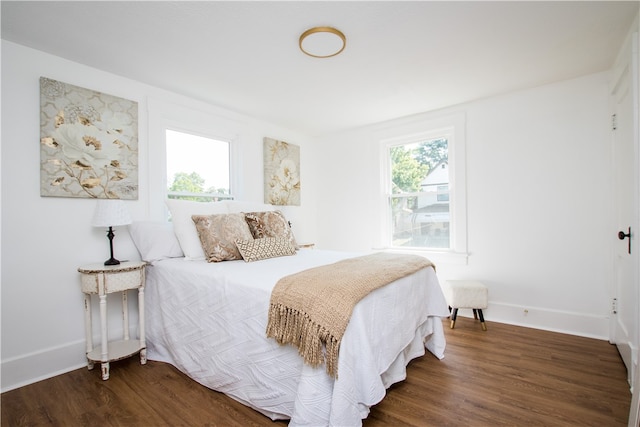
[[[264,138],[264,202],[300,206],[300,147]]]

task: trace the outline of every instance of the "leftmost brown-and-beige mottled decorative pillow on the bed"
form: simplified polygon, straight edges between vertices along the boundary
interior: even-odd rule
[[[236,240],[252,238],[243,214],[193,215],[192,219],[207,261],[242,259]]]

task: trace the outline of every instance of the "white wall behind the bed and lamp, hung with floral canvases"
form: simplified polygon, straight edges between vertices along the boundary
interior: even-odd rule
[[[161,122],[158,111],[176,117],[188,112],[235,136],[236,192],[243,200],[262,202],[263,137],[300,145],[303,206],[283,210],[294,223],[296,237],[315,239],[317,172],[304,135],[2,41],[2,391],[84,366],[77,268],[109,255],[105,230],[90,225],[94,200],[40,197],[40,76],[139,103],[139,199],[125,202],[134,220],[161,218],[164,212],[163,198],[158,197],[164,194],[157,176],[163,169],[163,141],[154,127]],[[126,227],[115,233],[116,257],[138,259]],[[109,327],[117,336],[122,330],[118,300],[110,301]],[[135,302],[132,295],[130,304]],[[137,321],[134,313],[131,321]],[[97,325],[94,316],[96,338]]]

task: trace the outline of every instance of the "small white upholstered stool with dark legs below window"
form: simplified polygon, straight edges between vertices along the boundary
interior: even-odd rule
[[[487,330],[482,309],[487,308],[489,291],[484,284],[476,280],[447,280],[442,290],[451,309],[451,329],[456,325],[458,309],[470,308],[474,319],[480,317],[482,330]]]

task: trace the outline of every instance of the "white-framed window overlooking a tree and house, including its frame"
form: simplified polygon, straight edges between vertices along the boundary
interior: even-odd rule
[[[390,137],[381,138],[383,246],[446,253],[466,262],[464,117],[385,133]]]

